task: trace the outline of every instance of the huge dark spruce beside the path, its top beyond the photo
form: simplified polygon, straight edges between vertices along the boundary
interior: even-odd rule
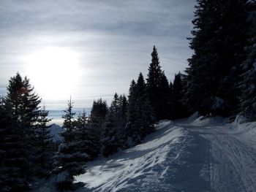
[[[236,85],[248,30],[246,7],[247,0],[197,0],[187,96],[191,107],[202,115],[237,112]]]

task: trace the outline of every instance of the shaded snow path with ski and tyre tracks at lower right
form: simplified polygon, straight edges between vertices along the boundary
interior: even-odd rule
[[[240,130],[229,126],[187,128],[208,141],[208,180],[212,191],[256,191],[256,135],[252,139],[247,135],[255,130],[248,127],[252,126],[250,123]]]

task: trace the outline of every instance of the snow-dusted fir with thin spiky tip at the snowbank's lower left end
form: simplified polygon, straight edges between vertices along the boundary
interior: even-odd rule
[[[68,107],[64,110],[63,128],[64,132],[61,136],[64,138],[59,145],[58,154],[56,155],[56,185],[59,189],[72,189],[74,177],[83,174],[85,169],[83,162],[87,161],[88,155],[80,153],[80,142],[76,138],[76,130],[74,126],[74,115],[72,112],[73,103],[68,101]]]

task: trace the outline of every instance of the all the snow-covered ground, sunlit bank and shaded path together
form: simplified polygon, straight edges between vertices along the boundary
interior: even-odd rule
[[[83,191],[256,191],[256,122],[162,121],[141,145],[86,164]]]

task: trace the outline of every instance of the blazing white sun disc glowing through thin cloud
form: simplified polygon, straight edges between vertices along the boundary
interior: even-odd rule
[[[26,75],[43,99],[68,99],[78,85],[78,54],[65,47],[45,47],[26,56]]]

